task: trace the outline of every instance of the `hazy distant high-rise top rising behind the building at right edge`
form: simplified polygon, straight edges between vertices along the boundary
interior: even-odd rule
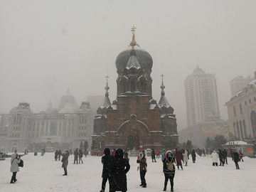
[[[240,90],[243,90],[245,87],[247,87],[252,80],[255,80],[254,77],[247,76],[247,78],[244,78],[242,76],[238,76],[235,79],[230,81],[230,88],[231,88],[231,95],[235,95],[235,93],[239,92]]]

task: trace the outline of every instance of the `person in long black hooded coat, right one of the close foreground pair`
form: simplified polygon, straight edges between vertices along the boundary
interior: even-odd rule
[[[113,166],[113,189],[112,191],[127,191],[127,172],[130,169],[130,165],[126,159],[124,159],[124,151],[117,149],[114,154],[114,166]]]

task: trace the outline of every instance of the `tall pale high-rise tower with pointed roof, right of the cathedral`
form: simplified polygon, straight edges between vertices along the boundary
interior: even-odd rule
[[[185,82],[188,127],[220,119],[215,74],[205,73],[198,66]]]

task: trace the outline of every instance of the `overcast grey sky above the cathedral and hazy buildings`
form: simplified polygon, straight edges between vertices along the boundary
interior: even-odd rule
[[[0,113],[18,102],[33,112],[58,107],[70,88],[78,105],[87,95],[117,95],[117,55],[136,41],[153,58],[153,97],[174,107],[186,128],[184,80],[198,65],[214,73],[220,115],[228,119],[230,81],[253,76],[256,63],[256,1],[1,0]]]

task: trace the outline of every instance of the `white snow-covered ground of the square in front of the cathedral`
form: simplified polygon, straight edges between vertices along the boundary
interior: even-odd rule
[[[32,153],[22,157],[24,167],[17,173],[18,181],[10,183],[11,160],[0,161],[0,191],[100,191],[102,183],[102,164],[100,156],[83,157],[83,164],[73,164],[74,156],[69,157],[68,176],[63,176],[60,161],[54,160],[53,153],[44,156],[33,156]],[[240,162],[240,170],[235,169],[232,159],[228,158],[228,165],[212,166],[210,156],[197,156],[196,164],[191,158],[183,171],[176,169],[174,191],[256,191],[256,159],[244,157]],[[148,171],[146,173],[147,188],[139,186],[140,178],[137,171],[137,157],[130,159],[131,169],[127,174],[128,191],[163,191],[164,174],[161,159],[156,163],[147,157]],[[107,183],[106,192],[109,191]],[[167,191],[171,191],[168,183]]]

